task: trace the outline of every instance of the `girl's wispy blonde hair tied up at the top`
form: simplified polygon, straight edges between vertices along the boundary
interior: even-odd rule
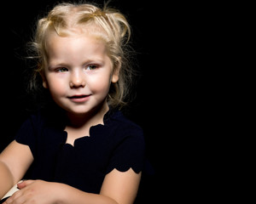
[[[86,29],[90,26],[90,29]],[[38,76],[44,71],[47,62],[47,35],[54,31],[65,37],[73,28],[100,37],[106,43],[108,57],[113,62],[113,71],[119,69],[119,81],[111,84],[108,93],[108,104],[122,107],[129,96],[132,85],[133,69],[131,67],[132,49],[129,46],[131,27],[117,9],[108,8],[107,4],[99,8],[91,3],[59,3],[49,11],[49,14],[38,20],[34,39],[30,43],[32,59],[37,59],[31,88],[37,88]],[[84,29],[83,29],[84,28]]]

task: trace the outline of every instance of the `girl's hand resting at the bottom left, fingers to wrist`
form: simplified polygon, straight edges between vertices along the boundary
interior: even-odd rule
[[[18,190],[3,204],[55,203],[56,183],[43,180],[26,180],[18,184]]]

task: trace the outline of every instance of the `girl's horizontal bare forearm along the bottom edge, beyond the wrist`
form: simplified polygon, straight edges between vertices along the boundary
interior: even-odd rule
[[[66,184],[58,184],[58,192],[55,194],[58,196],[58,204],[118,204],[117,201],[109,198],[105,195],[86,193],[81,190],[77,190]]]

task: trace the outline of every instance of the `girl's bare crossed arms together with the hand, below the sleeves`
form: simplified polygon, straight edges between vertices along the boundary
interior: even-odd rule
[[[0,197],[24,176],[32,164],[33,156],[28,146],[13,141],[0,155]],[[67,184],[26,180],[4,204],[131,204],[136,198],[141,173],[131,168],[125,173],[113,169],[104,178],[100,194],[91,194]]]

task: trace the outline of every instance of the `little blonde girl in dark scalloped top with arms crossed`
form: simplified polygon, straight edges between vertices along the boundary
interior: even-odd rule
[[[52,99],[0,155],[3,203],[133,203],[144,163],[143,130],[120,108],[131,84],[123,14],[60,3],[38,20],[32,77]]]

